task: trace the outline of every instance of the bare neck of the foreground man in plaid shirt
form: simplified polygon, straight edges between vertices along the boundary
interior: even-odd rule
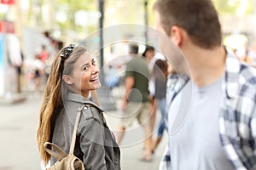
[[[184,54],[189,62],[189,77],[198,87],[211,84],[224,75],[226,53],[223,47],[203,49],[191,46]]]

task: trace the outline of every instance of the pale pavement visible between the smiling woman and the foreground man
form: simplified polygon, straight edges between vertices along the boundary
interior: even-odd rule
[[[113,133],[116,134],[118,127],[119,119],[114,115],[119,115],[119,111],[112,111],[110,116],[106,116],[108,126],[113,130]],[[158,116],[160,113],[158,113]],[[159,119],[159,117],[157,117]],[[155,138],[155,134],[154,134]],[[124,139],[119,145],[121,150],[121,165],[123,170],[155,170],[159,167],[160,159],[163,155],[163,151],[166,147],[167,137],[166,133],[162,139],[159,147],[154,153],[153,161],[145,162],[140,161],[139,157],[143,155],[143,128],[140,127],[137,122],[133,124],[131,129],[125,132]]]

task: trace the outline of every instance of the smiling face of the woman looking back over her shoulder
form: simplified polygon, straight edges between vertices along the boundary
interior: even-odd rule
[[[96,65],[96,59],[90,57],[85,52],[73,65],[73,74],[70,76],[71,88],[74,93],[82,94],[88,97],[90,90],[101,88],[99,79],[99,67]],[[66,81],[67,82],[67,81]]]

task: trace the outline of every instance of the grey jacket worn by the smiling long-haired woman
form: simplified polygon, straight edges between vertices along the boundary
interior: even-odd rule
[[[79,94],[68,94],[64,100],[64,108],[55,119],[52,142],[69,153],[77,111],[83,105],[74,155],[84,162],[85,169],[120,169],[119,146],[108,129],[102,109]],[[54,164],[55,159],[51,157],[50,162]]]

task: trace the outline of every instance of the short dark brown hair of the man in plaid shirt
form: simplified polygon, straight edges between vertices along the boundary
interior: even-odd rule
[[[156,20],[172,37],[172,28],[182,28],[195,45],[214,48],[221,45],[221,27],[212,0],[157,0]]]

